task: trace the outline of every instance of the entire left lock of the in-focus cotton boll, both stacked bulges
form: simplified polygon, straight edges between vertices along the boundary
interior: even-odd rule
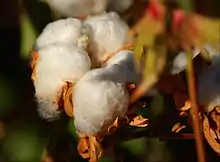
[[[57,119],[58,102],[67,82],[75,84],[90,70],[86,28],[81,20],[60,19],[49,23],[35,43],[35,96],[38,111],[47,120]]]

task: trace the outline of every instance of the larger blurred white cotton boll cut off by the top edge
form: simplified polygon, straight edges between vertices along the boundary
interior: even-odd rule
[[[43,0],[60,15],[81,17],[105,11],[109,0]]]

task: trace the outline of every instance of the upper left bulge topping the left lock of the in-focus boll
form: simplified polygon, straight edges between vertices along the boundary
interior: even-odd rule
[[[61,42],[77,45],[79,38],[87,35],[87,28],[75,18],[60,19],[49,23],[36,40],[35,49]]]

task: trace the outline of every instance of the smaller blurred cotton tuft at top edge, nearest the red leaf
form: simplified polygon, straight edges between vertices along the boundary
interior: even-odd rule
[[[125,12],[131,5],[134,3],[134,0],[110,0],[109,9],[117,13]]]

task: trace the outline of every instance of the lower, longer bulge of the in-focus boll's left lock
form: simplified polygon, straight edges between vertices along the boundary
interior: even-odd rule
[[[75,84],[91,68],[88,54],[72,44],[53,43],[38,51],[35,65],[35,96],[40,116],[57,118],[59,98],[67,82]]]

